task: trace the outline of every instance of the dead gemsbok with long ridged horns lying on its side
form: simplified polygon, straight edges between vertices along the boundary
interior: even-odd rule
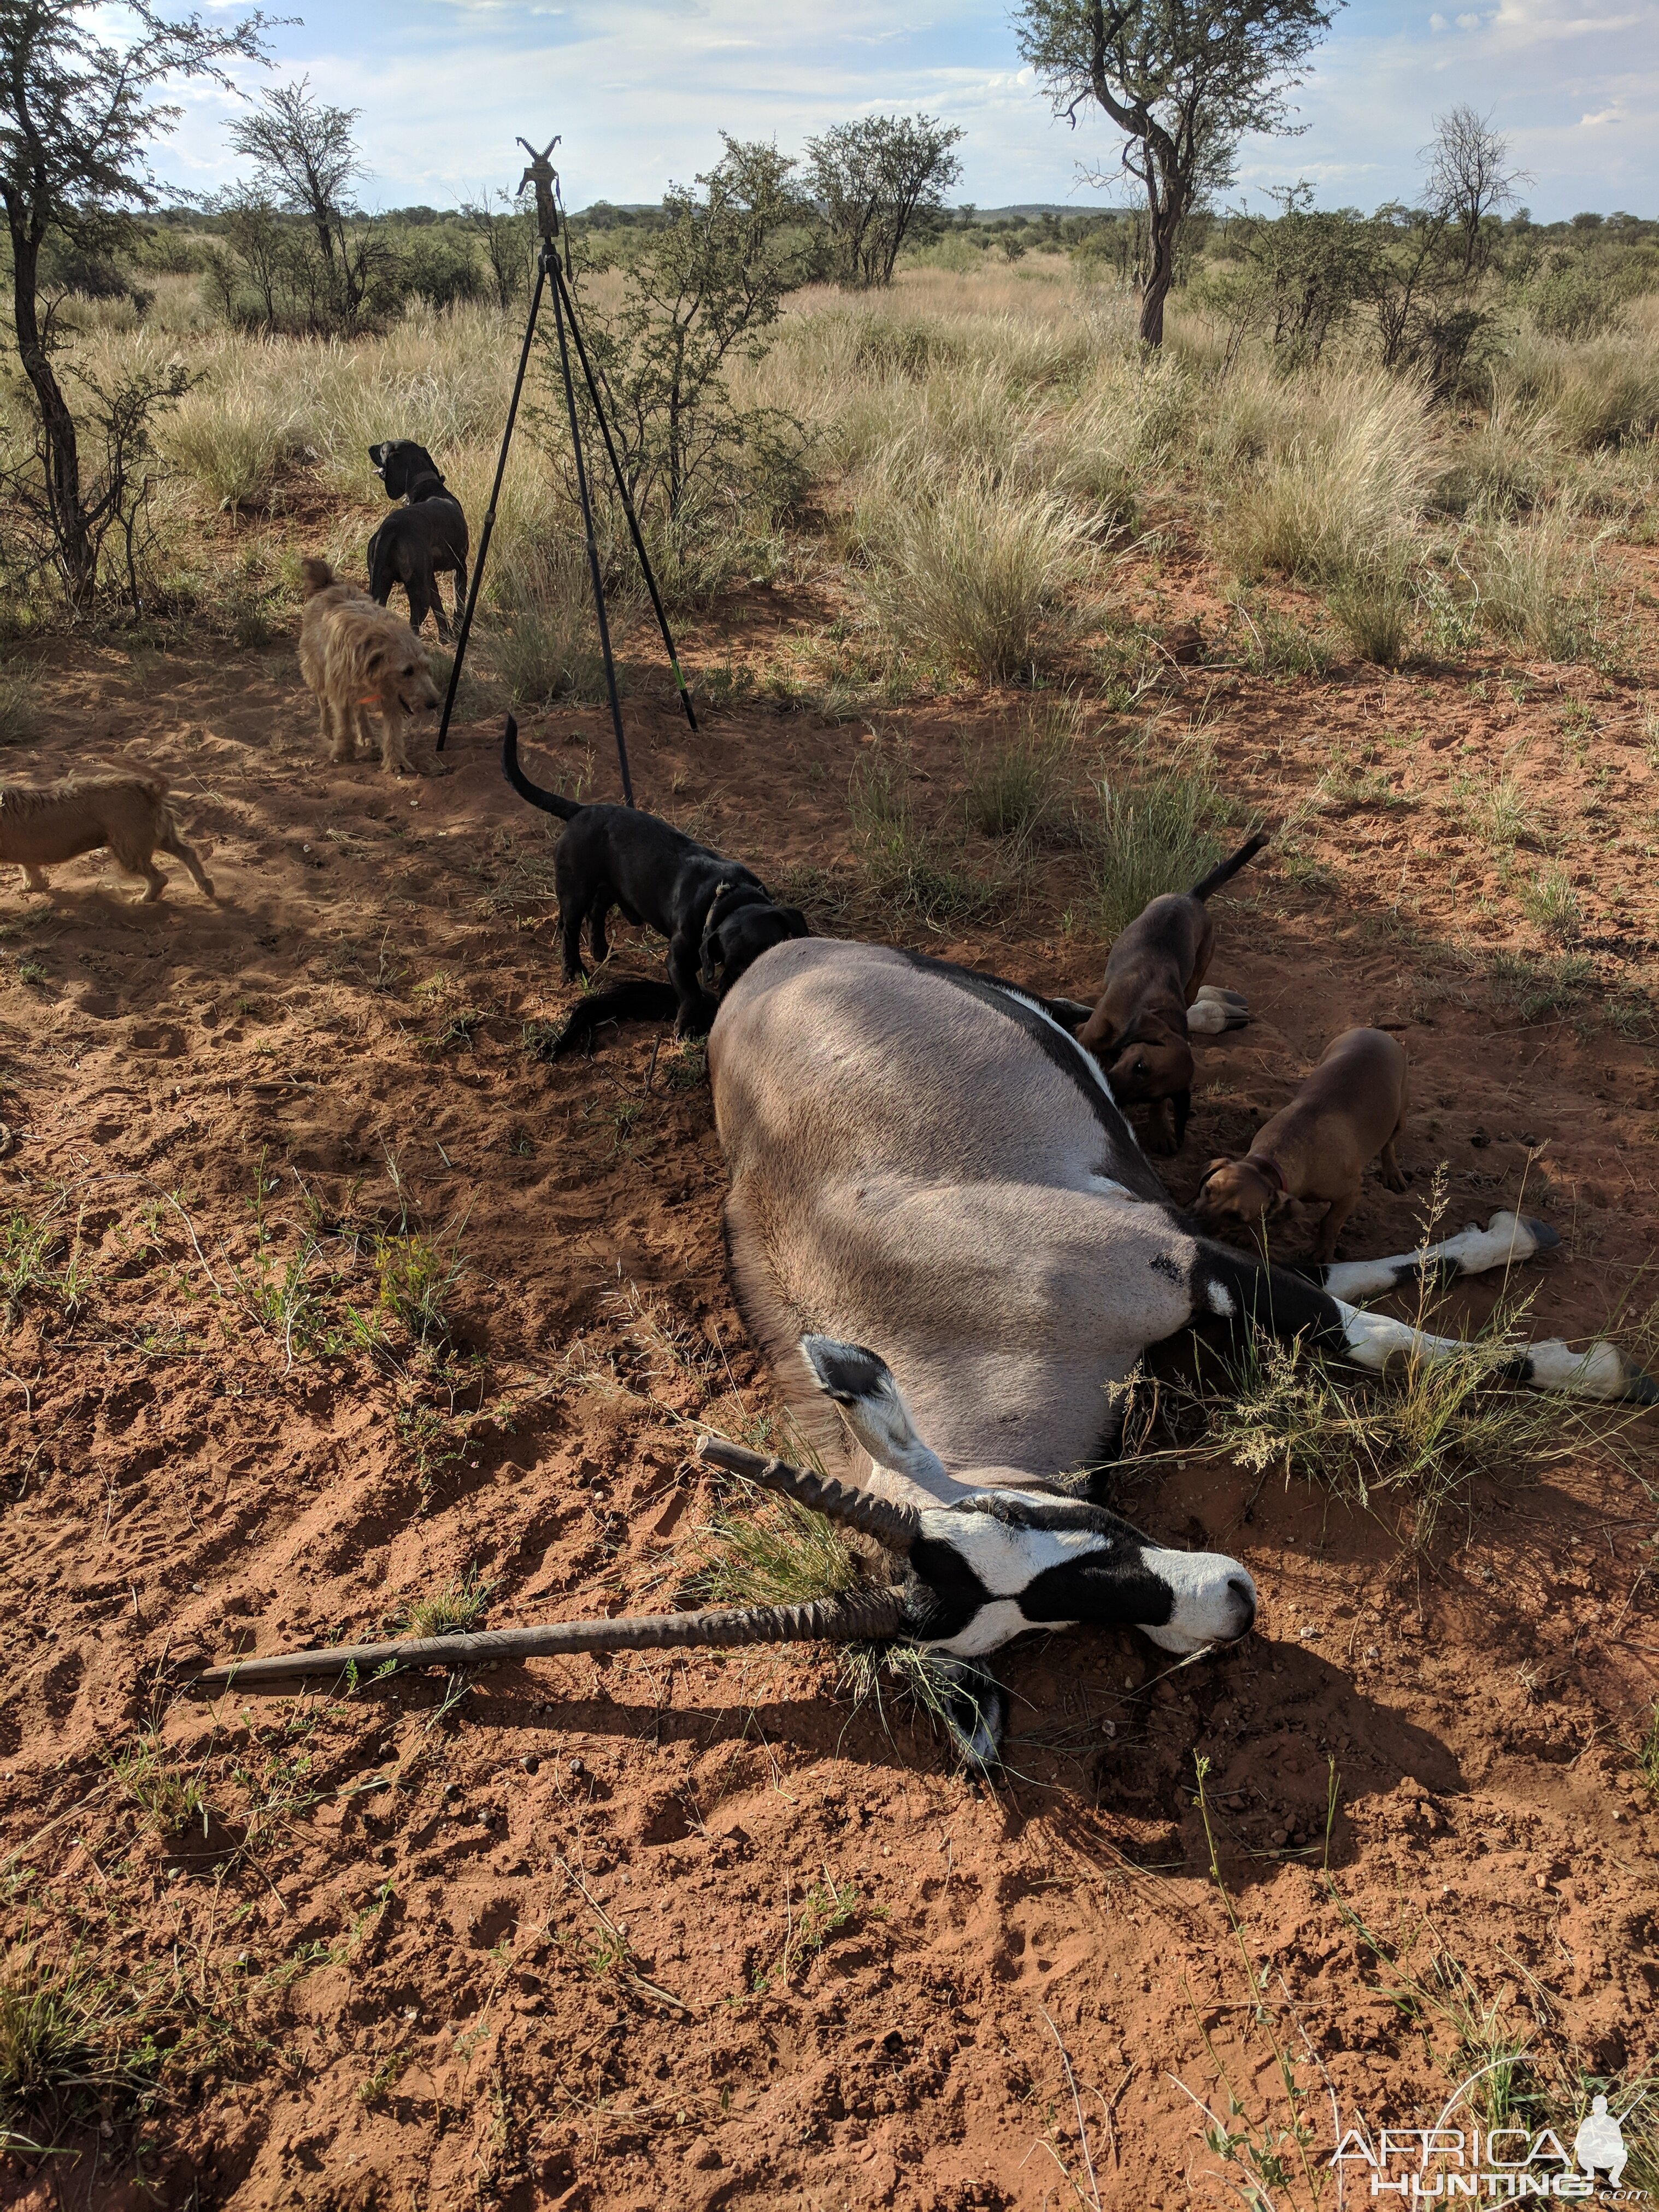
[[[876,1537],[902,1579],[812,1606],[248,1659],[199,1681],[909,1637],[953,1672],[958,1743],[982,1761],[1006,1710],[984,1657],[1024,1630],[1139,1626],[1192,1652],[1254,1621],[1237,1559],[1168,1551],[1095,1495],[1091,1469],[1115,1449],[1115,1385],[1150,1345],[1219,1321],[1237,1336],[1310,1338],[1374,1371],[1433,1360],[1451,1338],[1349,1301],[1557,1241],[1495,1214],[1429,1252],[1327,1265],[1316,1281],[1265,1267],[1186,1225],[1099,1066],[1037,1000],[872,945],[810,938],[765,953],[723,1000],[708,1060],[745,1321],[825,1464],[852,1480],[717,1440],[701,1451]],[[1659,1398],[1610,1343],[1517,1347],[1506,1378]]]

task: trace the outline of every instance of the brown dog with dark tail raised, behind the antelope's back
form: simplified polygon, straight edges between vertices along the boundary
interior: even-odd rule
[[[1192,1042],[1197,1026],[1188,1006],[1199,998],[1203,971],[1214,951],[1214,920],[1206,900],[1230,883],[1267,843],[1248,838],[1230,860],[1210,869],[1186,896],[1155,898],[1106,956],[1106,982],[1095,1011],[1077,1031],[1077,1042],[1106,1066],[1106,1079],[1119,1106],[1157,1102],[1159,1113],[1148,1135],[1150,1150],[1179,1152],[1192,1110]],[[1243,1022],[1243,1000],[1234,993],[1208,993],[1223,1002],[1214,1029]],[[1228,1018],[1225,1000],[1237,1011]]]

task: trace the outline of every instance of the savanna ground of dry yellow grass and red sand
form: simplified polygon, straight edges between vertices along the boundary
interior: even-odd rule
[[[1568,2143],[1635,2101],[1659,2188],[1650,1420],[1493,1389],[1480,1334],[1650,1332],[1646,228],[1500,226],[1473,330],[1394,356],[1316,239],[1217,226],[1144,352],[1115,226],[960,230],[781,285],[701,449],[641,429],[701,723],[606,511],[641,801],[830,933],[1079,998],[1267,823],[1177,1199],[1383,1022],[1413,1183],[1345,1250],[1513,1203],[1562,1250],[1431,1301],[1449,1380],[1159,1363],[1121,1502],[1237,1551],[1261,1630],[1181,1670],[1033,1639],[993,1785],[925,1670],[812,1650],[179,1697],[239,1648],[849,1566],[686,1464],[776,1436],[699,1048],[538,1057],[571,993],[502,710],[615,790],[546,358],[445,772],[330,768],[299,686],[296,560],[363,573],[372,440],[478,529],[518,296],[325,336],[212,268],[69,294],[82,389],[170,396],[100,606],[20,577],[0,768],[164,768],[221,902],[91,856],[0,911],[11,2203],[1287,2212],[1340,2201],[1338,2115],[1427,2126],[1475,2073],[1460,2110]],[[650,239],[584,234],[591,330]]]

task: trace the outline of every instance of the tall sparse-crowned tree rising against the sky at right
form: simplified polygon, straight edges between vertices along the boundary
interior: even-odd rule
[[[1055,115],[1095,102],[1146,192],[1141,341],[1164,343],[1181,223],[1232,179],[1239,139],[1290,133],[1290,91],[1343,0],[1020,0],[1020,53]]]

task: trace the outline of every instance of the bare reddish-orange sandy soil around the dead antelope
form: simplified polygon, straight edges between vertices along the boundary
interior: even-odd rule
[[[1650,1256],[1657,1159],[1652,1024],[1604,1018],[1659,938],[1646,858],[1617,891],[1613,838],[1659,796],[1635,688],[1188,679],[1188,708],[1212,692],[1241,807],[1283,814],[1334,745],[1376,748],[1378,783],[1305,832],[1323,878],[1263,863],[1223,909],[1212,973],[1254,1022],[1203,1053],[1221,1091],[1197,1099],[1177,1194],[1336,1029],[1387,1022],[1413,1062],[1413,1190],[1371,1181],[1345,1250],[1407,1248],[1440,1159],[1453,1225],[1526,1175],[1564,1232],[1528,1270],[1531,1327],[1601,1325]],[[1571,745],[1564,701],[1588,710]],[[938,810],[960,732],[995,712],[891,717]],[[7,1913],[13,1936],[137,1973],[186,2035],[142,2130],[159,2194],[117,2130],[77,2163],[0,2168],[0,2201],[1091,2203],[1068,2064],[1102,2205],[1221,2203],[1177,2077],[1225,2117],[1223,2064],[1283,2128],[1270,2033],[1312,2093],[1314,2172],[1327,2086],[1400,2126],[1449,2095],[1433,2053],[1455,2033],[1389,2002],[1354,1916],[1391,1942],[1422,1924],[1418,1973],[1455,1958],[1506,2017],[1635,2079],[1659,1936],[1659,1818],[1628,1772],[1659,1688],[1655,1509],[1593,1462],[1480,1489],[1427,1555],[1281,1478],[1166,1462],[1126,1482],[1159,1535],[1248,1559],[1261,1632],[1168,1679],[1133,1637],[1020,1648],[995,1794],[902,1708],[854,1710],[830,1659],[639,1657],[484,1677],[447,1725],[440,1683],[170,1703],[164,1739],[212,1816],[173,1840],[137,1818],[104,1761],[159,1710],[164,1659],[372,1635],[469,1568],[495,1624],[666,1604],[710,1504],[679,1420],[765,1402],[695,1057],[666,1046],[648,1088],[648,1031],[553,1073],[522,1048],[568,993],[549,838],[500,783],[495,728],[460,732],[451,774],[394,783],[319,765],[290,648],[133,666],[64,646],[42,745],[11,757],[166,765],[221,905],[177,869],[159,907],[128,905],[100,858],[60,869],[49,902],[0,896],[0,1113],[20,1133],[0,1203],[55,1203],[51,1267],[73,1245],[80,1270],[69,1305],[24,1296],[0,1360]],[[544,781],[593,750],[608,790],[604,717],[524,737]],[[1626,938],[1531,1024],[1471,962],[1515,925],[1436,814],[1517,737],[1535,803],[1582,838],[1588,929]],[[865,741],[763,706],[706,708],[692,739],[655,695],[633,708],[641,801],[821,914],[854,883]],[[1088,995],[1102,947],[1064,931],[1075,900],[1055,856],[1002,927],[885,927]],[[867,902],[841,914],[872,927]],[[347,1307],[374,1310],[376,1237],[400,1230],[465,1263],[442,1358],[343,1338]],[[296,1340],[270,1285],[305,1234],[323,1318]],[[1208,1876],[1194,1750],[1245,1947],[1272,1969],[1261,2017]],[[345,1794],[374,1776],[394,1787]],[[1285,2157],[1274,2203],[1312,2203]]]

